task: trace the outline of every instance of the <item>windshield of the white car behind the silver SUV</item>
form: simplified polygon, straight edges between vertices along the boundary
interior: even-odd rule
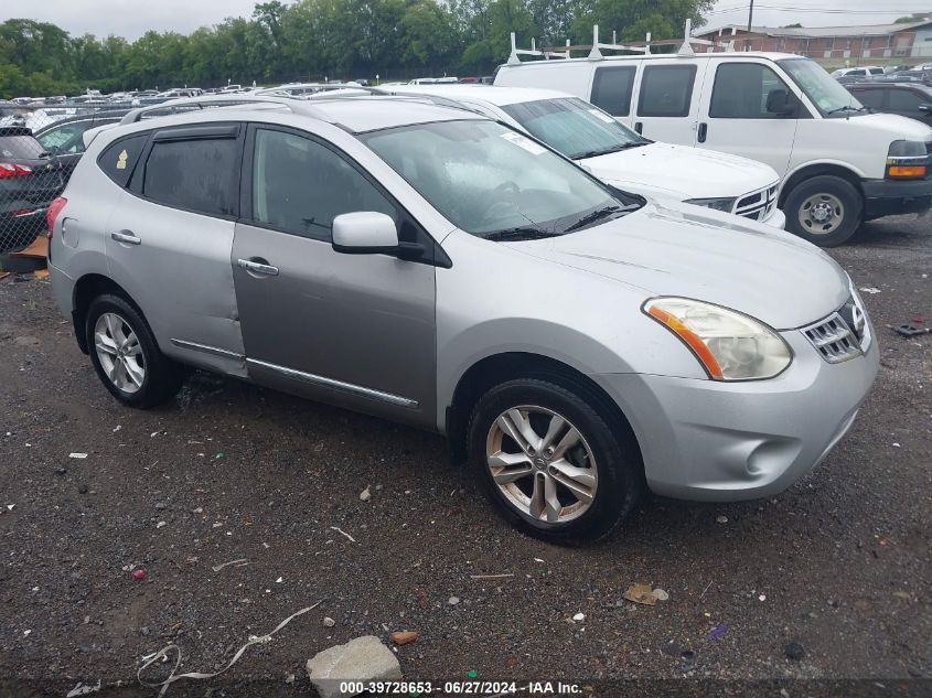
[[[577,98],[540,99],[502,107],[515,121],[567,158],[594,158],[650,141]]]

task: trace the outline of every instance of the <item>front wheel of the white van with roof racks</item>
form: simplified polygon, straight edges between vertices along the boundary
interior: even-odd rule
[[[836,247],[860,227],[864,198],[850,182],[821,175],[797,184],[783,211],[791,233],[819,247]]]

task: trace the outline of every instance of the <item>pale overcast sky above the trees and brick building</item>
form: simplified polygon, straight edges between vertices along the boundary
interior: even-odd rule
[[[2,0],[0,21],[10,18],[54,22],[72,35],[117,34],[137,39],[149,29],[189,33],[225,17],[249,17],[255,0]],[[708,26],[744,24],[749,0],[717,0]],[[885,24],[926,11],[932,0],[754,0],[754,24],[804,26]],[[780,8],[780,9],[776,9]]]

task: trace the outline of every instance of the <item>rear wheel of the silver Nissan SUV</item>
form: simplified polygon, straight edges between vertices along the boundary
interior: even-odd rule
[[[162,354],[149,324],[125,298],[95,298],[87,309],[85,336],[97,376],[124,405],[154,407],[181,388],[181,367]]]

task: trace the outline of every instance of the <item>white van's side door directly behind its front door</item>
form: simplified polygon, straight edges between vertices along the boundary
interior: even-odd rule
[[[651,140],[693,146],[706,62],[683,58],[643,61],[633,128]]]

